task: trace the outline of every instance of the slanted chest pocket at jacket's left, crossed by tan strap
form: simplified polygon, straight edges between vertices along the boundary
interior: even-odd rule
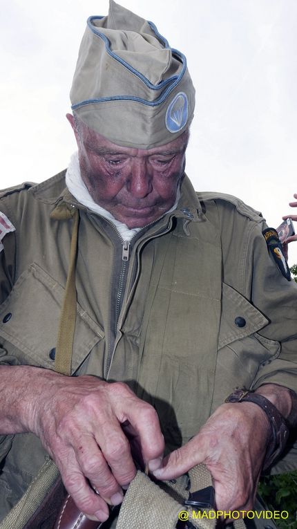
[[[54,369],[55,346],[64,288],[36,263],[23,272],[0,310],[0,337],[21,364]],[[104,337],[102,329],[77,304],[73,372]]]

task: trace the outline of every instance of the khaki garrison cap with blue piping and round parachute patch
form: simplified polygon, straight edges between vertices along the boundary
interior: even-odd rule
[[[195,89],[186,57],[152,22],[110,0],[108,16],[88,18],[70,100],[111,142],[150,149],[189,127]]]

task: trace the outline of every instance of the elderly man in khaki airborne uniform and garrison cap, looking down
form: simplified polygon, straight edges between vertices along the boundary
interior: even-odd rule
[[[152,23],[113,0],[90,17],[71,100],[68,170],[1,195],[1,516],[50,454],[105,521],[135,449],[158,479],[205,463],[217,508],[251,509],[296,425],[296,285],[276,232],[193,191],[194,89]]]

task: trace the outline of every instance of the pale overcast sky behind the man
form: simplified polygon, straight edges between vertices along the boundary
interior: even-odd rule
[[[297,1],[123,0],[188,59],[197,91],[186,171],[277,226],[297,192]],[[79,43],[108,1],[1,0],[0,187],[68,165],[65,114]],[[297,231],[297,225],[295,226]],[[297,263],[297,243],[289,262]]]

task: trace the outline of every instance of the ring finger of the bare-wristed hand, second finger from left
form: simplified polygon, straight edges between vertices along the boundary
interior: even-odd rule
[[[75,452],[79,469],[90,481],[96,492],[111,505],[119,505],[123,492],[113,476],[95,439],[84,436],[84,447],[79,446]]]

